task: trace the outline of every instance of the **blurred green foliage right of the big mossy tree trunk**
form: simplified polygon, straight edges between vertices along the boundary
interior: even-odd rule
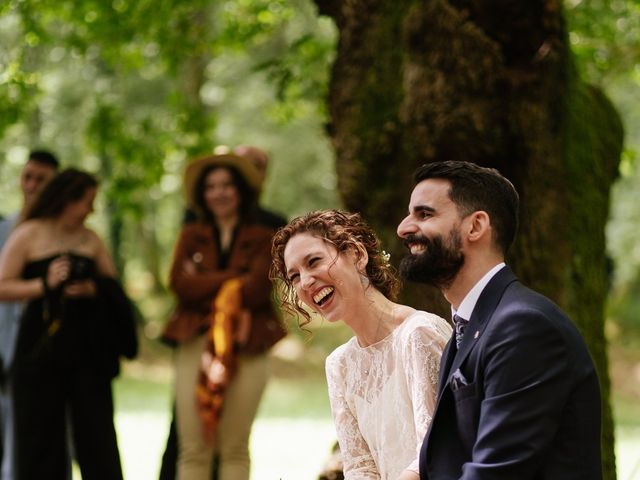
[[[607,223],[612,259],[609,310],[627,333],[640,332],[636,301],[640,252],[637,231],[640,204],[640,3],[636,0],[567,0],[571,46],[583,78],[603,85],[625,125],[625,152],[614,185]],[[598,117],[589,116],[590,121]]]

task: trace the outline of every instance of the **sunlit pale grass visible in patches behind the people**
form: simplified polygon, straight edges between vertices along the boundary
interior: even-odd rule
[[[340,327],[322,325],[311,340],[294,334],[278,346],[274,375],[251,438],[252,480],[317,478],[335,441],[323,360],[348,336]],[[141,360],[125,365],[114,384],[116,427],[128,480],[158,478],[172,406],[167,353],[143,352]],[[145,361],[150,357],[153,361]],[[621,378],[640,386],[640,355],[624,352],[611,358],[618,479],[640,480],[640,397],[635,389],[620,386]],[[74,479],[80,476],[76,473]]]

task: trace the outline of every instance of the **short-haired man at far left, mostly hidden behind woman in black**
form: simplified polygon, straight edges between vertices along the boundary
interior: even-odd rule
[[[20,191],[22,193],[22,207],[0,221],[0,251],[4,247],[9,234],[16,226],[19,218],[24,215],[33,203],[42,187],[56,174],[58,159],[45,150],[33,150],[20,173]],[[13,414],[9,401],[10,385],[4,380],[9,375],[13,363],[18,322],[22,311],[20,302],[0,302],[0,478],[11,480],[13,474]]]

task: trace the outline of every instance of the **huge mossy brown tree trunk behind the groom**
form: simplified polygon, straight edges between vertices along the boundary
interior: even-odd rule
[[[604,337],[604,226],[622,127],[578,78],[554,0],[316,0],[339,29],[329,133],[345,206],[397,263],[411,174],[455,159],[495,167],[521,196],[509,263],[584,334],[603,393],[603,460],[615,479]],[[435,292],[405,301],[445,313]]]

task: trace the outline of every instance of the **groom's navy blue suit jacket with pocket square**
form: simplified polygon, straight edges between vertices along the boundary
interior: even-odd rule
[[[574,324],[508,267],[469,320],[442,356],[421,480],[600,480],[598,378]]]

